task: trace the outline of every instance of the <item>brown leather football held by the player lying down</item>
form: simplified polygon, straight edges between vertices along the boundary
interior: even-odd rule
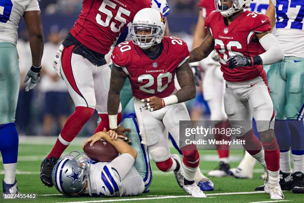
[[[84,145],[83,151],[90,159],[96,162],[111,162],[118,157],[118,151],[115,147],[104,140],[95,142],[93,146],[87,143]]]

